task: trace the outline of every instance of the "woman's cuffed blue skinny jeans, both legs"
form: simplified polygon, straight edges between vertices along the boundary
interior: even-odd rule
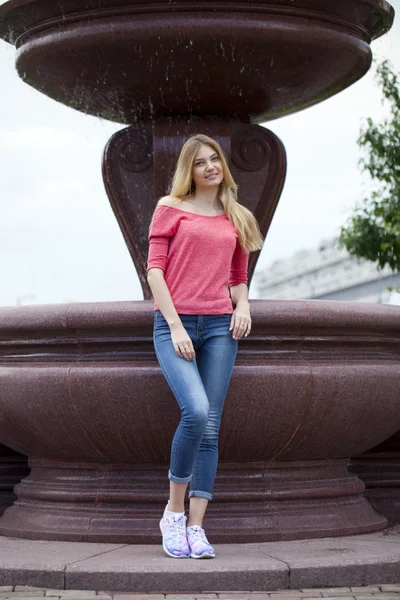
[[[218,465],[218,434],[238,340],[229,331],[232,314],[179,314],[196,356],[175,352],[169,325],[154,311],[153,341],[158,362],[174,394],[181,420],[172,440],[168,478],[190,481],[189,498],[212,500]]]

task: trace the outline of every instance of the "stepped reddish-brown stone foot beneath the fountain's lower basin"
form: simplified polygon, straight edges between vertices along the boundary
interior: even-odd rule
[[[222,463],[204,527],[215,543],[379,531],[387,520],[363,497],[347,459]],[[30,460],[31,474],[0,521],[25,539],[159,544],[168,467]],[[159,502],[155,500],[159,498]]]

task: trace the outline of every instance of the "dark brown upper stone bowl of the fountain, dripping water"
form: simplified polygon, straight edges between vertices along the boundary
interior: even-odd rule
[[[261,123],[362,77],[393,16],[384,0],[9,0],[0,37],[25,82],[85,113]]]

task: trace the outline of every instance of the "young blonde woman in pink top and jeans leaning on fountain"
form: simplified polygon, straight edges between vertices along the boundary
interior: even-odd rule
[[[252,212],[238,203],[222,148],[212,138],[195,135],[184,144],[171,193],[153,213],[149,242],[154,347],[181,412],[160,521],[163,548],[173,558],[213,558],[202,524],[238,340],[251,329],[249,252],[261,248],[263,238]]]

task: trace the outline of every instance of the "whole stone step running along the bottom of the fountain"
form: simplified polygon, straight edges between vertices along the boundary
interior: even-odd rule
[[[65,600],[89,600],[94,591],[97,597],[101,592],[102,599],[129,592],[167,594],[170,600],[174,594],[180,594],[175,600],[185,600],[182,594],[188,598],[207,594],[204,600],[212,600],[215,594],[224,600],[226,594],[230,600],[246,600],[247,594],[255,596],[258,592],[258,600],[268,593],[275,600],[328,600],[339,596],[358,596],[360,600],[371,596],[380,600],[384,593],[389,600],[389,596],[400,591],[397,530],[214,547],[214,559],[193,560],[170,558],[161,544],[88,544],[0,537],[0,594],[6,598],[10,586],[36,586],[36,595],[35,590],[27,588],[25,595],[24,588],[18,587],[13,597],[50,600],[58,596],[58,590],[64,590]],[[73,594],[72,590],[80,593]],[[298,593],[294,594],[294,590]]]

